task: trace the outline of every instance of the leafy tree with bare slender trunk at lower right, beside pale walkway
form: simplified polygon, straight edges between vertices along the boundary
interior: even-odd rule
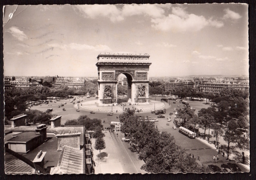
[[[227,142],[227,153],[229,154],[229,144],[236,143],[240,138],[242,132],[238,131],[238,124],[235,120],[230,120],[227,123],[227,128],[225,129],[225,133],[223,139]]]

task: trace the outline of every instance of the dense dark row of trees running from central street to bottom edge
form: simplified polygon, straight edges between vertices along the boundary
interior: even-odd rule
[[[128,110],[122,113],[119,116],[120,122],[131,142],[138,146],[139,157],[145,161],[150,172],[211,172],[209,167],[199,166],[194,158],[176,145],[170,133],[160,133],[152,122],[140,121],[134,112]]]

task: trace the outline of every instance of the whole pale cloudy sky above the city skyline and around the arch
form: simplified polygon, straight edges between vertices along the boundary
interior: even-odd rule
[[[13,13],[13,14],[11,14]],[[5,76],[97,76],[97,55],[147,53],[149,76],[248,75],[248,6],[5,6]]]

